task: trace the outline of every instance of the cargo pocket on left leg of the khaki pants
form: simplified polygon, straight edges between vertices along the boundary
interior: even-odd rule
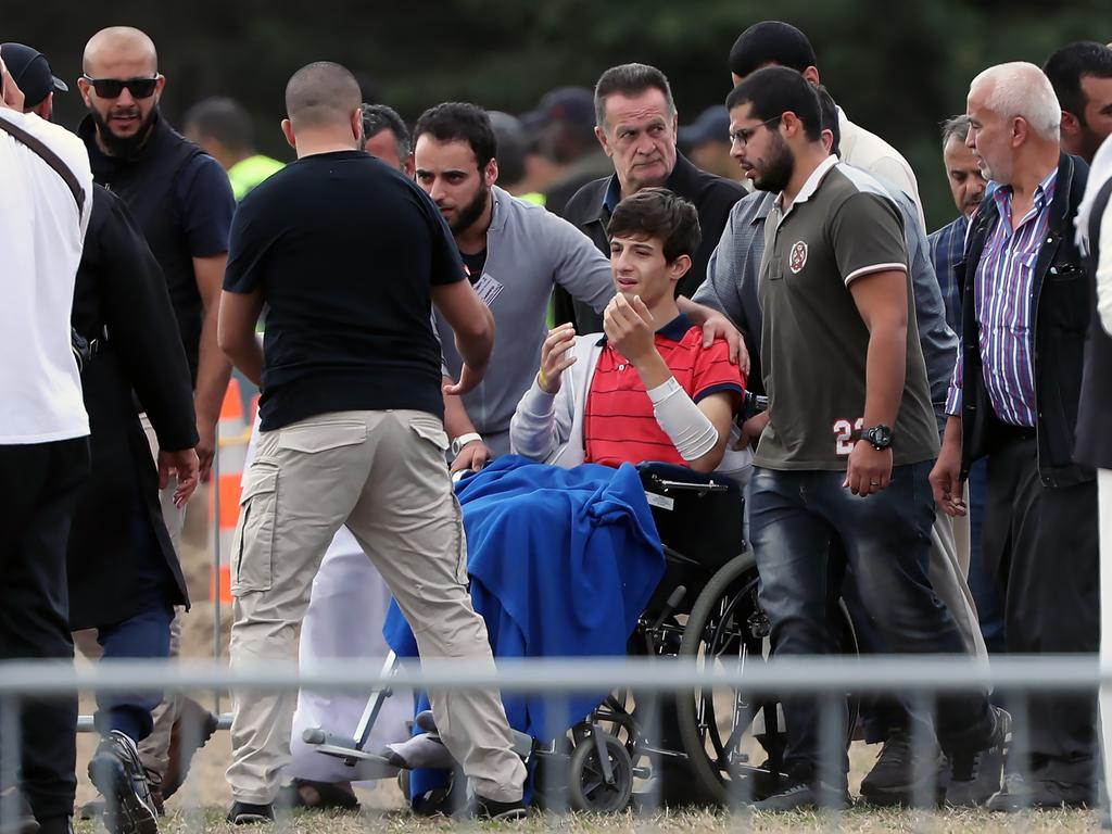
[[[272,582],[275,505],[278,469],[252,466],[239,496],[239,524],[231,543],[231,595],[270,590]]]

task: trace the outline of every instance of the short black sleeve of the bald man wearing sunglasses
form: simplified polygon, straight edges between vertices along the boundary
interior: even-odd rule
[[[176,191],[189,254],[208,258],[228,251],[236,198],[220,163],[206,153],[193,157],[178,175]]]

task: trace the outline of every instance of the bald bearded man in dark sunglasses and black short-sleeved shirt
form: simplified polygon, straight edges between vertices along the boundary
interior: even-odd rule
[[[192,376],[200,437],[197,454],[201,480],[207,481],[231,373],[216,340],[228,231],[236,208],[231,187],[219,162],[160,115],[166,78],[158,71],[155,43],[146,33],[129,27],[102,29],[86,44],[82,69],[78,88],[89,116],[78,135],[88,148],[95,180],[123,199],[162,268]],[[150,436],[146,414],[142,423]],[[176,488],[171,479],[161,499],[166,526],[178,549],[185,510],[173,505]],[[179,651],[180,618],[179,608],[171,626],[171,656]],[[192,725],[191,732],[181,732],[183,717]],[[155,729],[139,753],[158,805],[178,787],[191,755],[188,749],[169,755],[175,729],[182,747],[196,747],[216,731],[216,716],[189,698],[169,694],[155,709]]]

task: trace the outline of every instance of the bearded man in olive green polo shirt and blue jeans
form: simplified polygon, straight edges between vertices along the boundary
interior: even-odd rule
[[[773,652],[837,651],[827,612],[845,568],[831,564],[836,536],[886,645],[961,654],[926,576],[939,435],[902,216],[876,180],[827,153],[818,99],[795,70],[752,73],[726,107],[746,177],[780,195],[759,279],[768,425],[748,507]],[[977,753],[1003,745],[1010,717],[983,692],[940,697],[937,707],[935,729],[961,791]],[[817,701],[785,698],[784,715],[788,781],[756,807],[845,805],[845,756],[836,774],[820,764]]]

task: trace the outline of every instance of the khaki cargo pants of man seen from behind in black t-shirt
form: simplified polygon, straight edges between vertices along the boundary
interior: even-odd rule
[[[336,411],[258,436],[232,543],[231,665],[296,657],[312,578],[340,525],[359,542],[413,627],[424,664],[467,658],[494,668],[486,625],[466,588],[466,544],[444,454],[443,423],[414,410]],[[237,802],[274,802],[290,761],[296,692],[232,693]],[[445,745],[476,793],[522,796],[495,689],[430,692]]]

